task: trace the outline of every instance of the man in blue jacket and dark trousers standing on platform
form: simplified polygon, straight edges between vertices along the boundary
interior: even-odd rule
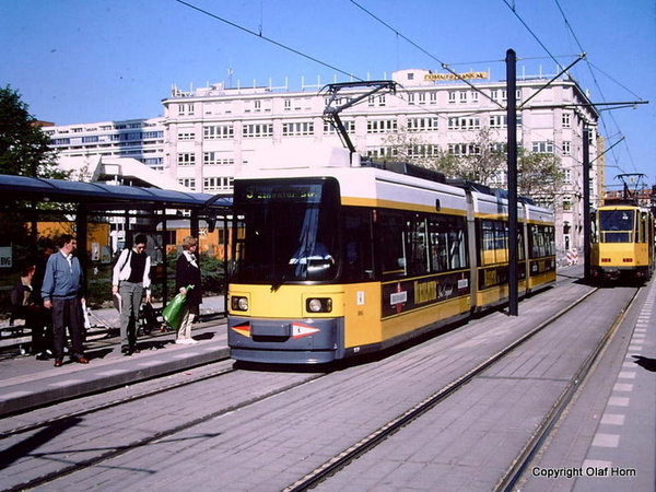
[[[66,328],[71,337],[71,359],[89,364],[82,342],[82,303],[84,277],[80,260],[73,256],[78,243],[70,234],[59,238],[59,253],[50,255],[46,263],[42,298],[44,307],[52,313],[55,367],[63,364]]]

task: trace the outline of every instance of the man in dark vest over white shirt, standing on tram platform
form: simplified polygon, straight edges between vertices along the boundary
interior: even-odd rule
[[[112,294],[120,295],[120,351],[125,355],[140,352],[137,319],[144,291],[145,302],[151,302],[151,259],[145,253],[147,244],[145,235],[138,234],[133,246],[120,251],[112,276]]]

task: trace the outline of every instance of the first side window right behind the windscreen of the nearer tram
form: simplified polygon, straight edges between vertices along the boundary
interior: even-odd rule
[[[368,209],[347,209],[344,245],[344,280],[373,279],[372,215]]]

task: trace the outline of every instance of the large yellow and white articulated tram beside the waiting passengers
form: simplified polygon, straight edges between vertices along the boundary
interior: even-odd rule
[[[235,178],[232,358],[327,363],[507,302],[499,192],[332,152],[330,166],[288,162]],[[554,225],[550,210],[527,201],[518,221],[524,295],[555,280]]]

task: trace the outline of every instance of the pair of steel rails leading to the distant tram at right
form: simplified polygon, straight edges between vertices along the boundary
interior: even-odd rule
[[[506,358],[509,353],[525,344],[527,341],[536,337],[538,333],[542,332],[546,328],[553,325],[557,320],[561,319],[564,315],[572,312],[575,307],[583,304],[590,296],[593,296],[599,289],[594,289],[579,298],[577,298],[571,305],[562,308],[549,319],[539,324],[529,332],[525,333],[513,343],[508,344],[503,350],[497,351],[493,355],[491,355],[485,361],[481,362],[477,366],[472,367],[462,376],[453,380],[450,384],[446,385],[441,390],[434,393],[433,395],[425,398],[420,403],[415,405],[413,408],[409,409],[405,413],[398,415],[396,419],[390,420],[385,425],[376,429],[374,432],[368,434],[363,440],[355,443],[350,448],[340,453],[339,455],[332,457],[331,459],[324,462],[320,467],[314,469],[312,472],[307,473],[302,479],[286,487],[283,492],[302,492],[312,490],[317,487],[319,483],[325,481],[327,478],[339,473],[340,470],[344,469],[356,458],[365,455],[366,453],[374,449],[378,444],[384,442],[386,438],[398,432],[403,426],[409,423],[415,421],[421,415],[425,414],[430,410],[434,409],[437,405],[446,400],[449,396],[454,395],[456,391],[465,387],[470,380],[475,377],[482,375],[488,368],[492,365],[496,364],[504,358]],[[631,307],[632,303],[635,301],[637,296],[639,290],[636,290],[629,304],[621,311],[617,319],[612,323],[610,328],[606,331],[606,333],[598,341],[595,349],[588,354],[584,363],[581,365],[575,376],[572,378],[571,383],[567,385],[566,390],[561,395],[559,400],[554,403],[548,417],[542,421],[540,427],[534,434],[532,438],[527,443],[525,448],[522,450],[517,459],[512,464],[507,473],[500,481],[497,487],[495,487],[495,491],[501,492],[509,492],[513,487],[517,483],[519,478],[523,476],[526,467],[530,462],[531,458],[538,453],[541,445],[544,443],[544,440],[549,435],[549,432],[553,429],[555,422],[563,413],[564,409],[572,400],[576,389],[578,388],[581,382],[587,376],[595,362],[599,358],[600,353],[604,351],[604,348],[608,344],[609,340],[612,338],[612,335],[617,330],[617,327],[620,325],[622,319],[625,316],[625,313]]]

